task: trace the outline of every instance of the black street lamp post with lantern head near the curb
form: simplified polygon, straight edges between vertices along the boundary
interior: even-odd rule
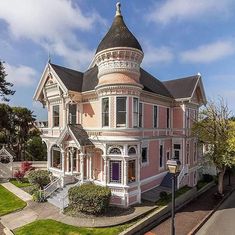
[[[178,159],[168,160],[166,163],[172,175],[172,211],[171,211],[171,235],[175,235],[175,179],[180,172],[180,161]]]

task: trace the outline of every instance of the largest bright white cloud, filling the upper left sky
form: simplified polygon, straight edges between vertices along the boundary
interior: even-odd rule
[[[13,38],[30,39],[77,68],[88,65],[93,53],[81,43],[77,32],[105,23],[94,11],[83,14],[72,0],[1,0],[0,19],[7,23]]]

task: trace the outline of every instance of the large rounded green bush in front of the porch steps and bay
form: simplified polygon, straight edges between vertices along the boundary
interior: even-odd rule
[[[101,214],[109,207],[111,190],[108,187],[84,184],[69,189],[69,204],[88,214]]]

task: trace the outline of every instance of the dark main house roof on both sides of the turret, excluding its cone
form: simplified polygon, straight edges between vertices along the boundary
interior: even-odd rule
[[[77,92],[91,91],[98,84],[98,67],[96,65],[84,74],[55,64],[51,64],[51,66],[68,90]],[[191,97],[197,80],[198,76],[196,75],[161,82],[140,68],[140,83],[144,86],[144,90],[169,98]]]

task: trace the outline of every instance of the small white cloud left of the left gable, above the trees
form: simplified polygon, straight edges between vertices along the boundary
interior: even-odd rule
[[[20,65],[18,67],[4,64],[7,73],[7,81],[18,87],[29,87],[35,85],[36,71],[30,67]]]

